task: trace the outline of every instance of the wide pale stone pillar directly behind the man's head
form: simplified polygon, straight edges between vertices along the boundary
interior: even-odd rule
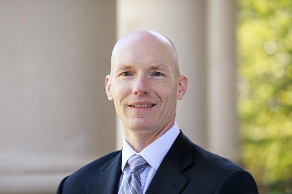
[[[204,0],[117,1],[117,38],[138,30],[157,31],[173,41],[180,71],[189,86],[178,101],[176,122],[195,143],[206,147],[206,18]],[[120,134],[122,127],[117,126]],[[117,136],[121,149],[122,135]]]

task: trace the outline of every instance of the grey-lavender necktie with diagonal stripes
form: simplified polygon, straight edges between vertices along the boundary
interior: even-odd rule
[[[128,159],[131,171],[126,181],[122,185],[119,194],[141,194],[141,177],[140,173],[148,163],[142,156],[136,154]]]

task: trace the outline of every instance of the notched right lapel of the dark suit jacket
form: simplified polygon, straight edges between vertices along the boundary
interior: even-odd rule
[[[193,143],[180,131],[155,173],[146,194],[178,194],[189,182],[182,171],[194,164]]]

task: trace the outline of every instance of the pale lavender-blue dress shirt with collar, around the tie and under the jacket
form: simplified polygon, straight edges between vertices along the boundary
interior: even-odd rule
[[[174,123],[174,125],[166,131],[161,137],[152,142],[150,145],[145,147],[140,153],[147,163],[149,164],[140,174],[141,183],[142,183],[142,193],[145,194],[147,191],[150,182],[152,181],[160,163],[164,159],[174,140],[177,138],[180,130],[178,129],[178,125]],[[123,151],[122,151],[122,174],[119,181],[119,190],[121,189],[121,185],[124,184],[124,181],[127,179],[130,174],[130,166],[127,163],[128,159],[137,154],[135,150],[128,144],[124,137],[123,143]],[[119,193],[119,191],[118,191]]]

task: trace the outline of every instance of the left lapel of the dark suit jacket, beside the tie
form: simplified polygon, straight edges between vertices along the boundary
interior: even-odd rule
[[[99,168],[100,177],[86,185],[87,194],[117,193],[121,176],[121,152]]]

